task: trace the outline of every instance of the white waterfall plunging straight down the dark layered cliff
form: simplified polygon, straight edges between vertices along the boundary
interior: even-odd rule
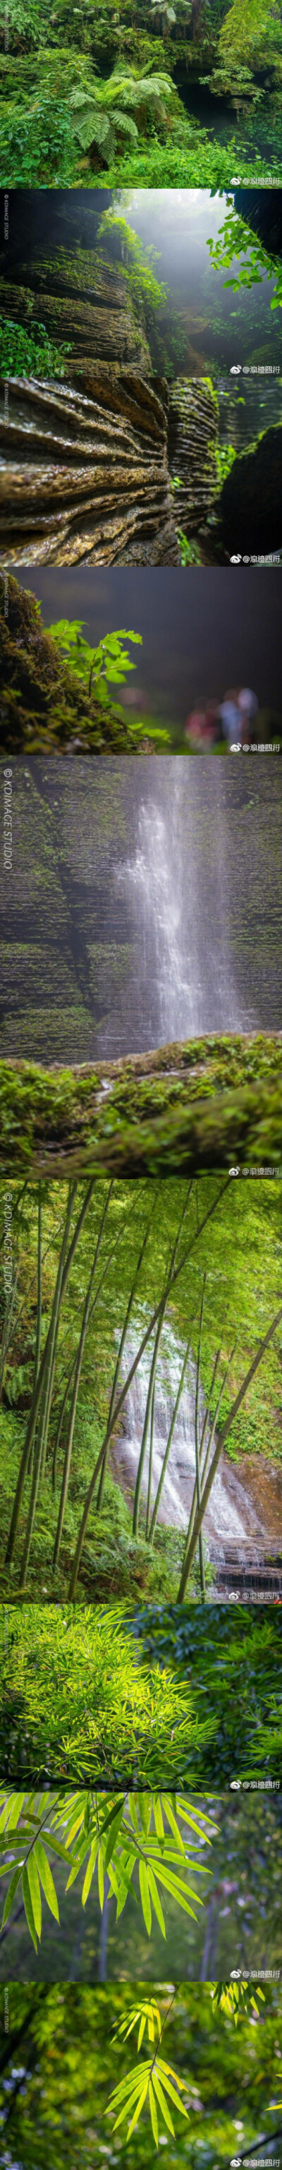
[[[134,940],[130,1048],[256,1029],[232,961],[230,803],[223,764],[158,760],[134,786],[134,846],[117,868]],[[232,859],[234,875],[234,859]]]

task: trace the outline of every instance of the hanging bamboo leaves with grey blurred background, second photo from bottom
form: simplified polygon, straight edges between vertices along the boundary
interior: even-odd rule
[[[56,1805],[50,1795],[35,1795],[33,1808],[24,1797],[17,1831],[15,1814],[13,1829],[7,1821],[11,1795],[2,1792],[2,1810],[0,1981],[161,1983],[174,1975],[176,1940],[180,1981],[223,1981],[230,1964],[232,1973],[247,1966],[247,1973],[260,1975],[269,1962],[273,1975],[280,1970],[280,1792],[230,1790],[206,1799],[195,1795],[191,1803],[187,1797],[178,1803],[171,1795],[134,1795],[128,1803],[121,1795],[111,1801],[78,1795],[74,1801],[74,1792],[65,1797],[61,1790]],[[20,1862],[13,1868],[13,1842],[15,1862],[20,1844],[22,1864],[28,1864],[24,1888]],[[56,1844],[65,1851],[56,1853]],[[117,1897],[124,1849],[128,1881]],[[13,1892],[11,1877],[17,1877]]]

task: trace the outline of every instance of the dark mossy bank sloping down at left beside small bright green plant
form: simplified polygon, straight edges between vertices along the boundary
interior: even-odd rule
[[[89,694],[43,631],[28,588],[0,573],[0,727],[4,753],[137,753],[134,731]],[[148,751],[148,749],[145,749]]]

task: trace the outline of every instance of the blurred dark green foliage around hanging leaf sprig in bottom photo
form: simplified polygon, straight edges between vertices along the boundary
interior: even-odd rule
[[[143,2170],[145,2163],[150,2170],[150,2105],[141,2109],[130,2155],[126,2127],[117,2124],[113,2131],[117,2109],[111,2107],[113,2083],[126,2081],[128,2088],[128,2075],[132,2079],[139,2066],[137,2012],[150,2029],[154,2022],[148,2066],[161,2027],[161,2059],[171,2068],[174,2098],[167,2090],[163,2101],[156,2096],[167,2170],[178,2170],[180,2161],[193,2170],[200,2153],[208,2170],[215,2153],[226,2170],[239,2148],[243,2159],[247,2148],[262,2142],[267,2146],[271,2135],[280,2140],[282,2114],[269,2107],[280,2103],[282,2092],[280,1986],[265,1983],[260,1994],[254,1983],[247,1999],[241,1983],[234,1983],[234,1992],[223,1986],[213,1992],[174,1986],[171,1979],[156,1988],[152,2009],[145,2012],[143,1983],[139,2003],[126,1983],[98,1990],[76,1983],[11,1983],[7,2003],[2,1992],[0,2114],[4,2155],[11,2163],[17,2161],[17,2170],[54,2170],[54,2161],[56,2170],[93,2170],[93,2161],[121,2163],[121,2170],[128,2161],[132,2170]],[[145,2051],[148,2025],[141,2057]]]

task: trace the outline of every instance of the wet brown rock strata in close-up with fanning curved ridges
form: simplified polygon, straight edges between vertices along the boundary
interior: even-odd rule
[[[9,382],[4,564],[178,564],[167,384],[130,369]]]

